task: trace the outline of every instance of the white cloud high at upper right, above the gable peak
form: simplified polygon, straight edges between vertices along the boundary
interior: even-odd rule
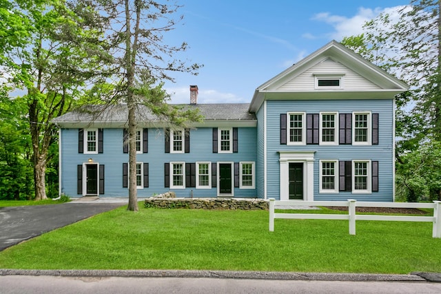
[[[321,21],[331,25],[333,30],[325,32],[327,39],[334,39],[341,41],[345,36],[356,36],[363,32],[362,27],[367,21],[375,19],[382,12],[390,14],[391,19],[398,17],[398,10],[402,6],[391,8],[358,8],[358,12],[353,17],[343,17],[340,15],[330,14],[329,12],[320,12],[312,17],[314,21]],[[303,34],[307,39],[312,39],[316,36],[310,33]]]

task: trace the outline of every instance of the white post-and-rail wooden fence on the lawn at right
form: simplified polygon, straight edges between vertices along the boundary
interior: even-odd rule
[[[274,219],[286,218],[297,220],[349,220],[349,235],[356,234],[356,220],[390,220],[399,222],[433,222],[433,238],[441,238],[441,201],[433,203],[409,203],[409,202],[358,202],[349,199],[347,201],[280,201],[269,199],[269,231],[274,231]],[[290,206],[330,206],[349,207],[348,214],[314,214],[314,213],[275,213],[275,207]],[[390,208],[429,208],[433,209],[433,216],[380,216],[356,214],[356,207],[390,207]]]

